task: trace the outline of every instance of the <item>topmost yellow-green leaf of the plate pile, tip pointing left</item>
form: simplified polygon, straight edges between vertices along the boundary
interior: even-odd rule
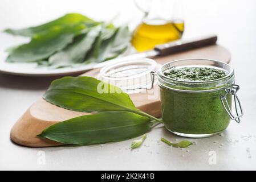
[[[66,14],[58,19],[52,20],[51,22],[41,24],[36,27],[22,28],[22,29],[6,29],[5,32],[13,35],[21,36],[35,36],[37,34],[46,34],[46,32],[54,30],[56,27],[62,26],[74,26],[78,23],[86,23],[88,26],[97,24],[94,20],[78,13]]]

